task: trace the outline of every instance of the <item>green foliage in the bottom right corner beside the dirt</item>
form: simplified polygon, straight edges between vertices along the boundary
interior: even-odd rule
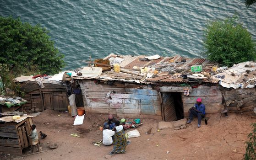
[[[256,160],[256,123],[251,124],[252,132],[247,136],[244,160]]]

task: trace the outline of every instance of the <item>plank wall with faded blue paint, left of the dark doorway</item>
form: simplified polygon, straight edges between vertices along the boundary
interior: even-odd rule
[[[87,112],[162,120],[161,103],[156,90],[126,88],[124,84],[95,84],[93,80],[83,80],[80,87]],[[107,97],[109,91],[115,93]]]

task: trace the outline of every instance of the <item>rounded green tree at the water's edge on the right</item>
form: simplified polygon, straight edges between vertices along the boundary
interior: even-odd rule
[[[232,66],[256,59],[256,43],[250,32],[233,16],[223,21],[211,21],[204,30],[203,44],[207,58]]]

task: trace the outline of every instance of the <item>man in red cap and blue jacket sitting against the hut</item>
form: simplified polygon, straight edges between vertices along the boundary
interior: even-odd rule
[[[194,107],[191,107],[188,112],[189,112],[189,120],[187,121],[187,123],[188,124],[191,123],[194,116],[196,116],[198,120],[197,127],[198,128],[201,127],[201,119],[205,117],[205,106],[204,104],[202,104],[202,99],[197,98],[196,104],[194,105]]]

